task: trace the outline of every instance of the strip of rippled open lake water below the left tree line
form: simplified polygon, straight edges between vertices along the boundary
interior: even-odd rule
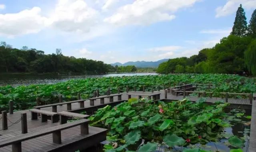
[[[88,77],[121,77],[134,75],[158,75],[157,73],[112,73],[106,75],[26,75],[26,74],[4,74],[0,75],[0,86],[31,85],[31,84],[52,84],[67,81],[70,79],[85,79]]]

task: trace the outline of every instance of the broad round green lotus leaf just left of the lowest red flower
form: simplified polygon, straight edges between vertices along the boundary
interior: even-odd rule
[[[181,146],[185,143],[185,140],[181,137],[176,136],[176,134],[168,134],[164,136],[163,141],[170,147]]]

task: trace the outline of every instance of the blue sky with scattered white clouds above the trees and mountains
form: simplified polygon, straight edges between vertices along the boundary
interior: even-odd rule
[[[256,0],[0,0],[0,41],[105,63],[190,57]]]

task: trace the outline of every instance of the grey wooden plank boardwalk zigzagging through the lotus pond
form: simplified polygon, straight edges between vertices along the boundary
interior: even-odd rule
[[[142,93],[142,91],[137,91],[138,93]],[[155,93],[161,93],[160,99],[164,99],[164,90],[160,91],[154,91]],[[127,93],[121,93],[122,94],[122,100],[128,100]],[[136,95],[132,95],[132,97],[138,98]],[[142,96],[143,97],[143,96]],[[188,99],[191,101],[197,101],[198,97],[192,97],[188,96]],[[183,99],[183,96],[175,96],[171,93],[167,93],[167,99],[168,100],[180,100]],[[72,103],[72,111],[76,110],[86,110],[86,109],[93,109],[94,111],[98,108],[104,107],[108,104],[118,104],[123,101],[117,101],[118,97],[114,97],[114,102],[109,101],[109,98],[105,98],[105,104],[100,104],[100,99],[97,99],[94,101],[94,106],[90,106],[90,101],[86,100],[84,101],[84,107],[80,108],[79,103]],[[225,99],[222,98],[216,98],[216,97],[206,97],[207,102],[214,103],[216,101],[224,101]],[[241,106],[248,106],[252,107],[252,124],[256,124],[256,103],[253,101],[253,105],[250,104],[248,99],[228,99],[228,103],[232,105],[238,105]],[[52,107],[46,107],[42,108],[42,110],[45,111],[52,111]],[[57,112],[60,111],[67,111],[67,105],[57,106]],[[51,123],[50,120],[47,122],[41,122],[40,119],[38,120],[31,120],[31,114],[28,110],[26,111],[18,111],[14,112],[14,114],[7,114],[8,117],[8,130],[2,130],[2,125],[0,125],[0,140],[9,138],[9,137],[15,137],[18,135],[21,135],[21,122],[18,122],[16,124],[12,124],[12,122],[16,122],[20,119],[21,113],[27,113],[27,121],[28,121],[28,132],[35,132],[38,130],[50,128],[52,126],[57,126],[60,124],[60,122],[57,123]],[[89,113],[90,114],[90,113]],[[1,115],[0,115],[1,118]],[[0,120],[0,124],[2,124],[2,119]],[[252,133],[254,131],[254,133]],[[251,125],[251,139],[256,139],[256,125]],[[52,142],[52,134],[40,136],[38,138],[33,138],[30,140],[26,140],[22,142],[22,152],[49,152],[49,151],[75,151],[78,150],[80,147],[76,146],[77,149],[74,149],[74,146],[70,145],[82,145],[82,148],[88,148],[92,146],[92,144],[99,143],[106,139],[106,130],[96,127],[89,127],[89,134],[88,135],[81,135],[80,134],[80,127],[76,126],[73,128],[69,128],[66,130],[61,131],[61,138],[62,138],[62,144],[54,144]],[[88,142],[86,142],[88,141]],[[256,141],[256,140],[255,140]],[[88,144],[87,144],[88,143]],[[256,142],[250,142],[250,147],[252,147],[253,150],[256,148]],[[72,149],[73,148],[73,149]],[[3,148],[0,148],[0,152],[11,152],[12,146],[5,146]],[[250,152],[256,152],[250,151]]]

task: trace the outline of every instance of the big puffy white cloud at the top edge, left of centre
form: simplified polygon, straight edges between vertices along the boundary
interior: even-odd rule
[[[59,0],[50,17],[52,27],[64,32],[87,33],[97,24],[98,11],[84,0]]]

